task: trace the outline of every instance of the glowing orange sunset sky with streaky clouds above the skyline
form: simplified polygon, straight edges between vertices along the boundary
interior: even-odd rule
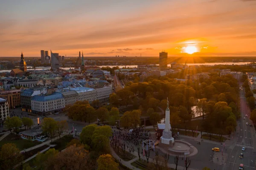
[[[256,56],[256,0],[1,0],[0,57]]]

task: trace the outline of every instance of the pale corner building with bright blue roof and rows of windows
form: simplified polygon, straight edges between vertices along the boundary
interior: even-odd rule
[[[60,92],[51,95],[35,95],[31,98],[32,112],[45,114],[61,111],[65,108],[64,97]]]

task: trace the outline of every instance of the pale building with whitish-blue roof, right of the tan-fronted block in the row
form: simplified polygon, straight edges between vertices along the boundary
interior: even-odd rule
[[[78,93],[79,101],[89,101],[92,102],[97,100],[97,92],[95,89],[88,87],[76,87],[70,88],[71,90],[75,90]]]

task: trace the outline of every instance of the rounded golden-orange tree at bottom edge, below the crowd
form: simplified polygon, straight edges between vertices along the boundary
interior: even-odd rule
[[[103,154],[97,160],[97,170],[119,170],[115,159],[110,154]]]

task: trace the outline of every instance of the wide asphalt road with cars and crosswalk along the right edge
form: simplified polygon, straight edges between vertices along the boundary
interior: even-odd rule
[[[241,84],[239,85],[241,87]],[[239,90],[240,95],[240,109],[241,109],[241,118],[237,122],[238,126],[236,129],[236,134],[234,134],[237,139],[236,144],[233,146],[230,156],[227,160],[227,165],[224,167],[224,170],[236,170],[239,169],[240,164],[244,164],[245,170],[255,170],[255,131],[253,126],[250,127],[246,125],[252,124],[250,120],[250,109],[247,107],[245,90]],[[245,115],[248,115],[246,117]],[[245,117],[245,120],[244,120]],[[242,147],[245,147],[245,151],[242,151]],[[239,155],[243,153],[244,158],[239,158]]]

